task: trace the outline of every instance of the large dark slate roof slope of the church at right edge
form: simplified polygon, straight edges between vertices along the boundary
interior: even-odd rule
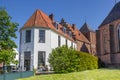
[[[100,26],[108,24],[114,20],[120,19],[120,2],[118,2],[110,11],[108,16],[104,19]]]

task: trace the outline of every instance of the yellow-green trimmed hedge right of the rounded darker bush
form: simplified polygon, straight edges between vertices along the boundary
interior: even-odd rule
[[[98,58],[95,56],[92,56],[85,52],[78,52],[78,67],[77,71],[81,70],[90,70],[90,69],[97,69],[98,68]]]

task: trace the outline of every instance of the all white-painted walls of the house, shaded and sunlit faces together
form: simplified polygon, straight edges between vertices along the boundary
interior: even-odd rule
[[[45,30],[45,43],[39,42],[39,30]],[[34,66],[34,68],[38,68],[38,52],[39,51],[45,51],[46,52],[46,59],[45,64],[49,65],[48,63],[48,57],[49,54],[52,52],[52,49],[58,47],[58,35],[51,29],[46,28],[31,28],[31,43],[25,43],[25,29],[22,30],[22,43],[20,44],[20,52],[22,54],[21,58],[21,64],[24,66],[24,52],[30,51],[31,52],[31,70]],[[61,37],[61,46],[66,44],[66,38],[59,35]],[[67,40],[68,47],[71,46],[71,41]],[[76,44],[73,42],[73,47],[76,47]]]

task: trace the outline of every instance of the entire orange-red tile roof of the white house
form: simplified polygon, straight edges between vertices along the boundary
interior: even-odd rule
[[[67,34],[64,34],[63,31],[61,30],[63,26],[61,24],[58,24],[58,30],[54,26],[54,22],[49,18],[48,15],[43,13],[41,10],[36,10],[33,15],[29,18],[29,20],[24,24],[24,26],[21,28],[26,29],[26,28],[36,28],[36,27],[42,27],[42,28],[50,28],[51,30],[55,31],[56,33],[65,36],[66,38],[74,41],[73,38],[68,36]],[[68,24],[69,30],[71,30],[72,33],[75,35],[76,40],[80,40],[86,43],[89,43],[87,38],[78,30],[73,30],[72,26]]]

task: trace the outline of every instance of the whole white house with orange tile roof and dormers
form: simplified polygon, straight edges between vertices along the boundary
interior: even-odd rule
[[[91,42],[75,26],[54,15],[46,15],[36,10],[20,30],[20,67],[22,70],[38,69],[40,65],[49,66],[48,57],[52,49],[67,45],[78,51],[92,54]]]

